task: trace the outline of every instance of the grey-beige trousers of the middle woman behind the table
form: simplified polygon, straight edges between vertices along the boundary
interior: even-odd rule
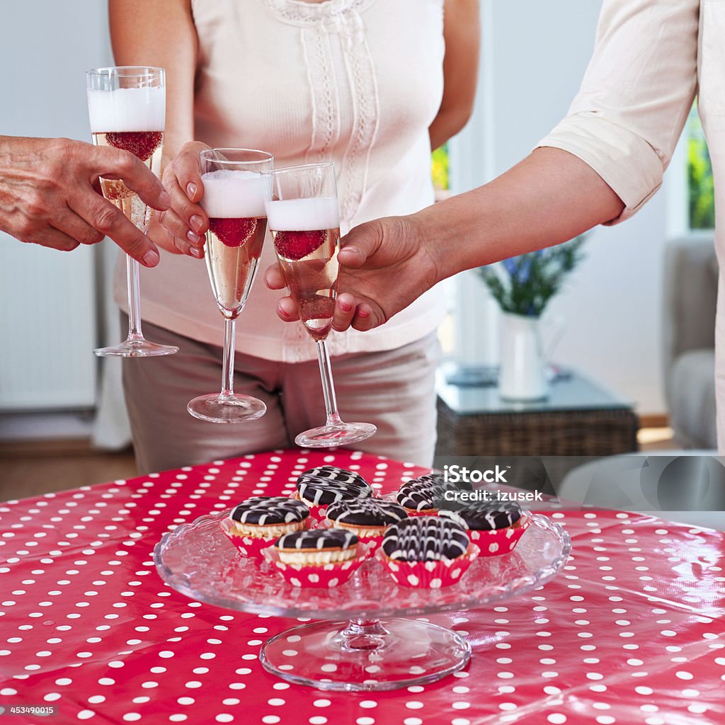
[[[128,318],[122,317],[125,328]],[[192,418],[186,411],[188,401],[220,389],[221,348],[146,322],[144,334],[154,342],[177,345],[179,352],[123,361],[123,389],[139,473],[294,447],[294,436],[325,423],[317,360],[275,363],[239,352],[234,360],[234,390],[264,401],[267,413],[251,423],[230,425]],[[431,465],[439,350],[431,333],[399,349],[333,359],[341,418],[378,426],[372,438],[353,446],[356,450]]]

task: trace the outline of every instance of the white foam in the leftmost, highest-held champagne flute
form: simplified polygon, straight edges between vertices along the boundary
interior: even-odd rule
[[[165,115],[164,88],[88,91],[91,133],[162,131]]]

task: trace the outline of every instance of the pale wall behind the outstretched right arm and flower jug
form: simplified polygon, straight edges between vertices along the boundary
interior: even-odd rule
[[[482,1],[476,113],[452,149],[457,191],[508,169],[566,115],[592,51],[600,7],[599,0]],[[566,319],[555,360],[599,378],[636,402],[640,413],[665,409],[660,375],[665,204],[666,194],[658,194],[626,224],[592,231],[586,259],[550,305],[552,315]],[[466,324],[473,328],[476,320]]]

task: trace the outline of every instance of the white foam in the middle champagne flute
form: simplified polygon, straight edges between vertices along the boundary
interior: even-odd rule
[[[210,218],[265,216],[262,175],[254,171],[219,169],[202,175],[202,208]]]

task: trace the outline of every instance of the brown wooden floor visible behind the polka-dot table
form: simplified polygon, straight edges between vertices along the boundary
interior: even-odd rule
[[[647,450],[674,449],[670,428],[642,428]],[[93,450],[86,439],[0,443],[0,501],[38,496],[137,475],[133,450]]]

